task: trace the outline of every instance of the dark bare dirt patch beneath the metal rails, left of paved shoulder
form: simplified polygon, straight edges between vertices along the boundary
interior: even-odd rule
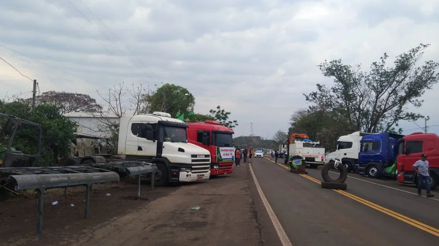
[[[119,183],[94,184],[90,194],[89,218],[84,219],[85,187],[49,189],[44,195],[42,237],[37,237],[37,198],[35,192],[21,193],[0,202],[0,245],[59,245],[66,238],[80,236],[97,224],[126,215],[178,187],[155,187],[143,183],[141,199],[137,198],[137,180],[126,179]],[[110,194],[110,195],[107,195]],[[58,205],[52,206],[52,202]],[[71,204],[74,207],[71,207]]]

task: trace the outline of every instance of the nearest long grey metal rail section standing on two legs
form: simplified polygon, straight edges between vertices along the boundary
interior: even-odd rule
[[[14,184],[15,190],[37,190],[38,236],[41,236],[42,234],[44,190],[49,188],[84,185],[86,187],[84,217],[87,218],[90,204],[91,185],[105,182],[117,182],[120,180],[119,175],[115,172],[96,167],[84,166],[0,168],[0,175],[2,179],[3,177],[7,177],[8,180],[6,184]],[[6,184],[1,187],[5,187]]]

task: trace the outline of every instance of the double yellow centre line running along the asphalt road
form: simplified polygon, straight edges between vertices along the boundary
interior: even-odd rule
[[[271,162],[274,162],[274,161],[271,161]],[[276,163],[276,164],[278,164],[279,166],[281,166],[281,167],[283,167],[285,169],[289,169],[285,165],[282,165],[282,164],[279,164],[279,163]],[[315,182],[317,184],[321,184],[320,180],[315,179],[315,178],[313,178],[311,176],[308,176],[306,174],[300,174],[300,176],[302,176],[302,177],[304,177],[304,178],[306,178],[306,179],[308,179],[308,180],[310,180],[312,182]],[[350,198],[350,199],[352,199],[354,201],[362,203],[362,204],[364,204],[364,205],[366,205],[366,206],[368,206],[368,207],[370,207],[370,208],[372,208],[374,210],[377,210],[377,211],[379,211],[381,213],[384,213],[386,215],[392,216],[392,217],[394,217],[396,219],[399,219],[399,220],[401,220],[401,221],[403,221],[403,222],[405,222],[405,223],[407,223],[409,225],[412,225],[412,226],[414,226],[414,227],[416,227],[418,229],[421,229],[421,230],[423,230],[425,232],[428,232],[430,234],[433,234],[433,235],[439,237],[439,229],[437,229],[435,227],[429,226],[429,225],[424,224],[422,222],[419,222],[419,221],[417,221],[415,219],[409,218],[409,217],[407,217],[405,215],[402,215],[402,214],[399,214],[399,213],[394,212],[392,210],[386,209],[386,208],[384,208],[382,206],[379,206],[378,204],[369,202],[366,199],[358,197],[358,196],[356,196],[354,194],[351,194],[349,192],[346,192],[344,190],[337,190],[337,189],[332,189],[332,190],[337,192],[337,193],[339,193],[339,194],[341,194],[341,195],[344,195],[344,196],[346,196],[346,197],[348,197],[348,198]]]

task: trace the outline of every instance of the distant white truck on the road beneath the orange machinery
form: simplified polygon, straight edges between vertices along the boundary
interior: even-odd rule
[[[325,161],[325,148],[320,147],[320,142],[293,140],[288,146],[288,154],[301,156],[310,168],[317,168]]]

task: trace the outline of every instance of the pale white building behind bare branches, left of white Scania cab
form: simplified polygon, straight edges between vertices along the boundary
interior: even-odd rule
[[[107,132],[103,131],[108,123],[119,123],[120,119],[116,116],[102,117],[99,114],[91,113],[67,113],[64,116],[69,117],[76,123],[78,133],[89,134],[94,136],[106,137]]]

